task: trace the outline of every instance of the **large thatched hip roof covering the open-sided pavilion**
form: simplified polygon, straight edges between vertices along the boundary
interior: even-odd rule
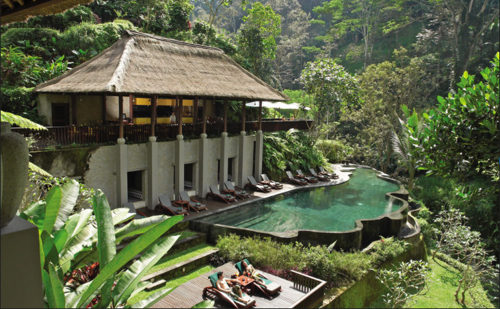
[[[35,91],[289,100],[221,49],[134,31]]]

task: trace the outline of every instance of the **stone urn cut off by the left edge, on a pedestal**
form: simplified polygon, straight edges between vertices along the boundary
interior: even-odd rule
[[[7,226],[16,215],[28,179],[29,153],[26,139],[10,130],[10,123],[1,123],[1,212],[0,227]]]

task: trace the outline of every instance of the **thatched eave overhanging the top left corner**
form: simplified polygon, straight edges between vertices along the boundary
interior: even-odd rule
[[[94,0],[1,0],[1,25],[26,21],[29,17],[62,13]]]

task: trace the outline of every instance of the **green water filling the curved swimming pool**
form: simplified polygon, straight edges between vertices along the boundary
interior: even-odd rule
[[[265,232],[343,232],[356,227],[357,219],[373,219],[402,206],[397,199],[387,200],[385,196],[399,186],[380,180],[375,171],[356,169],[350,177],[338,186],[277,195],[201,221]]]

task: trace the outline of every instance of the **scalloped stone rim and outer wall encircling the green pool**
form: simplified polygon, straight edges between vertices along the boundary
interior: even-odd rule
[[[338,167],[338,166],[337,166]],[[337,186],[339,184],[343,184],[350,180],[350,175],[356,169],[371,169],[376,172],[376,177],[381,180],[385,180],[387,182],[391,182],[393,184],[397,184],[399,186],[399,190],[395,190],[389,193],[386,193],[386,199],[397,199],[402,201],[403,205],[399,207],[397,210],[393,212],[388,212],[385,214],[381,214],[380,216],[373,219],[356,219],[355,225],[352,230],[334,232],[334,231],[324,231],[324,230],[305,230],[305,229],[296,229],[289,230],[286,232],[267,232],[261,230],[253,230],[246,227],[234,227],[231,225],[222,225],[222,224],[211,224],[202,222],[202,219],[206,217],[213,216],[218,213],[226,212],[228,210],[234,210],[240,208],[242,206],[246,206],[249,203],[254,203],[256,201],[263,201],[265,199],[269,199],[270,197],[274,197],[276,195],[281,195],[283,193],[292,193],[298,190],[308,190],[309,188],[318,188],[318,187],[326,187],[326,186]],[[224,209],[215,210],[213,212],[204,214],[200,217],[193,218],[189,220],[189,227],[192,230],[198,230],[199,232],[206,232],[209,240],[215,243],[215,235],[212,235],[212,232],[222,232],[222,234],[239,234],[240,236],[252,236],[259,235],[263,237],[270,237],[274,240],[278,240],[283,243],[293,243],[295,241],[299,241],[300,243],[312,243],[313,245],[330,245],[331,243],[338,242],[337,247],[342,249],[360,249],[361,246],[367,246],[369,243],[373,242],[376,239],[380,239],[380,236],[399,236],[399,234],[404,230],[407,226],[408,219],[408,191],[404,188],[401,182],[397,180],[393,180],[389,177],[389,175],[382,173],[381,171],[377,171],[369,166],[363,165],[341,165],[340,173],[343,174],[343,179],[338,182],[328,182],[328,183],[318,183],[315,185],[309,186],[295,186],[290,188],[287,191],[277,191],[276,194],[266,195],[263,197],[259,197],[257,199],[252,199],[248,201],[244,201],[242,203],[238,203],[237,205],[230,206]],[[339,174],[340,174],[339,173]],[[411,212],[414,212],[412,210]],[[417,227],[418,222],[410,214],[410,221],[412,221],[412,226]],[[383,222],[382,222],[383,221]],[[387,221],[387,222],[386,222]],[[381,223],[381,224],[378,224]],[[390,223],[390,224],[388,224]],[[205,225],[203,227],[202,225]],[[390,225],[389,229],[386,228],[385,225]],[[419,227],[419,226],[418,226]],[[369,230],[369,231],[368,231]],[[415,238],[415,235],[419,234],[420,229],[406,236],[404,238]],[[377,234],[373,236],[373,233]]]

